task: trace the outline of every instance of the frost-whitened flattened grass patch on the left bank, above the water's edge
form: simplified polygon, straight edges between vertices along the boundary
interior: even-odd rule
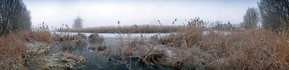
[[[26,46],[28,47],[27,52],[29,53],[43,53],[45,51],[51,51],[54,48],[52,44],[38,41],[27,43]]]

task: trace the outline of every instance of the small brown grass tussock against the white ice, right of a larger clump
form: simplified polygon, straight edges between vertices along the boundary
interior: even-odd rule
[[[96,41],[96,42],[103,42],[104,37],[101,35],[99,36],[97,33],[90,34],[88,36],[89,41]]]

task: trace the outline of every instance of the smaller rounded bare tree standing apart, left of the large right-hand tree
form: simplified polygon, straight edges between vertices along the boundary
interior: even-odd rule
[[[260,21],[260,18],[258,16],[259,13],[256,8],[248,7],[246,14],[243,17],[243,27],[246,29],[253,29],[254,27],[257,27],[257,24]]]

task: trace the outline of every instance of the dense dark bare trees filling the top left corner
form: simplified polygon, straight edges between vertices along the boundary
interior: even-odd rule
[[[22,0],[0,0],[0,34],[31,29],[31,12]]]

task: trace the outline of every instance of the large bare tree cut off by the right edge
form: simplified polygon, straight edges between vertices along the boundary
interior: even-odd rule
[[[282,24],[288,28],[289,0],[260,0],[258,7],[265,29],[277,29]]]

